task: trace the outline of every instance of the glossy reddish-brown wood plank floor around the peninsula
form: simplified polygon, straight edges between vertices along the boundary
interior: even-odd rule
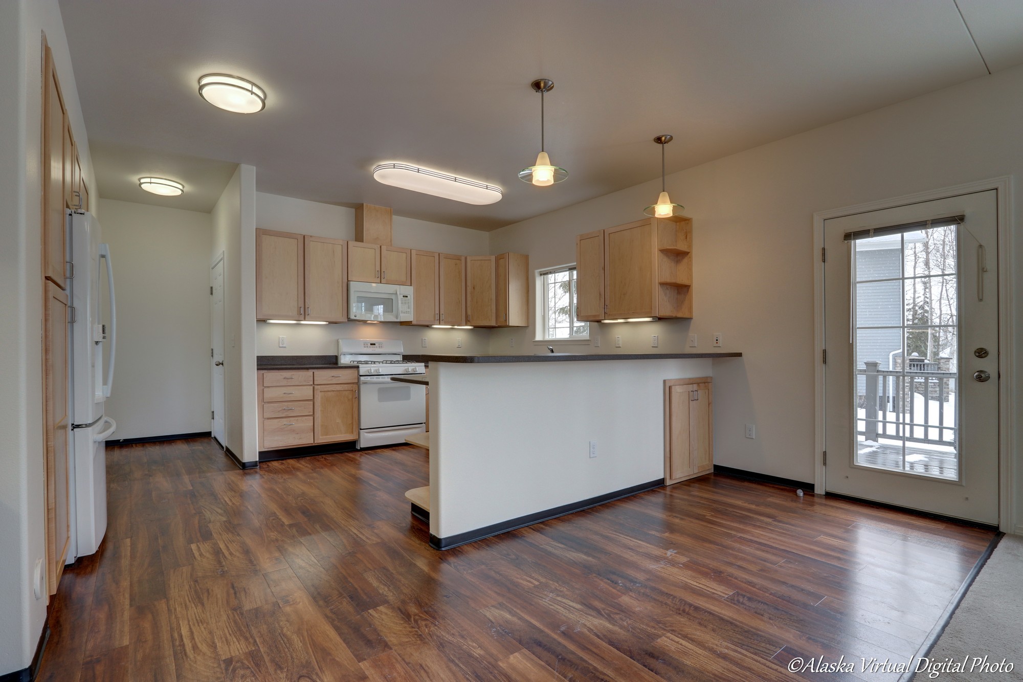
[[[107,463],[42,680],[797,679],[796,656],[908,658],[992,535],[716,475],[437,552],[404,499],[417,447]]]

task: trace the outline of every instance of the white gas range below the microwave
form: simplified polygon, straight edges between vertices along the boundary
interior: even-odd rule
[[[359,447],[402,443],[427,430],[426,387],[391,381],[427,373],[422,363],[402,359],[403,350],[394,339],[338,339],[338,364],[359,369]]]

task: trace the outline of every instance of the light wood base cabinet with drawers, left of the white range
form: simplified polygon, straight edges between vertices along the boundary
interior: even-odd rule
[[[347,368],[260,370],[259,450],[358,439],[358,380]]]

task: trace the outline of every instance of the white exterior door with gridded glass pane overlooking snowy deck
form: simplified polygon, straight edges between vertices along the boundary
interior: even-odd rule
[[[824,238],[826,489],[997,523],[996,190]]]

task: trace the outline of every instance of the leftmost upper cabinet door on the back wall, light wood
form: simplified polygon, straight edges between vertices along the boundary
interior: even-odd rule
[[[256,318],[304,319],[302,235],[256,230]]]

